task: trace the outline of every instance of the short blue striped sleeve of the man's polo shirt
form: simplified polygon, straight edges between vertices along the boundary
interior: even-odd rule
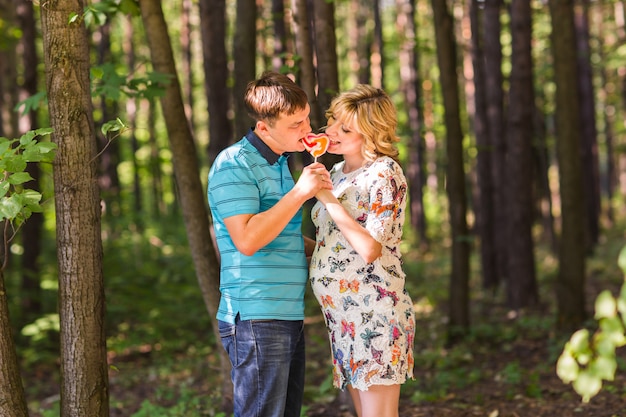
[[[260,211],[258,182],[241,153],[214,164],[208,193],[209,204],[221,219]]]

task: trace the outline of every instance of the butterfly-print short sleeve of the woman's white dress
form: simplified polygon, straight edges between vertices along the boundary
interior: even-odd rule
[[[365,228],[378,242],[392,245],[402,238],[406,179],[400,165],[391,159],[377,161],[372,168]]]

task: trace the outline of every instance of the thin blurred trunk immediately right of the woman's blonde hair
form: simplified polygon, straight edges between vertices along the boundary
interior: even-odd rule
[[[420,237],[420,243],[428,246],[426,215],[424,212],[424,106],[422,104],[422,82],[419,75],[419,50],[415,29],[415,0],[397,0],[398,17],[396,27],[401,34],[400,89],[408,113],[409,162],[405,170],[409,182],[411,226]]]

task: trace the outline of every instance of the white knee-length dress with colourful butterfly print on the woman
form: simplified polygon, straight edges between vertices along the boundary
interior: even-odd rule
[[[333,194],[382,244],[382,255],[367,264],[317,202],[311,211],[316,245],[309,279],[320,303],[333,357],[333,382],[367,390],[413,378],[413,303],[404,288],[400,241],[406,179],[389,157],[350,173],[344,162],[331,170]]]

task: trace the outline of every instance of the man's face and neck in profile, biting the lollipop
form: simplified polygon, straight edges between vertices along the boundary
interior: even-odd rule
[[[310,111],[311,108],[307,104],[304,109],[293,114],[281,114],[271,125],[259,121],[255,132],[278,155],[284,152],[302,152],[304,151],[302,138],[311,132]]]

